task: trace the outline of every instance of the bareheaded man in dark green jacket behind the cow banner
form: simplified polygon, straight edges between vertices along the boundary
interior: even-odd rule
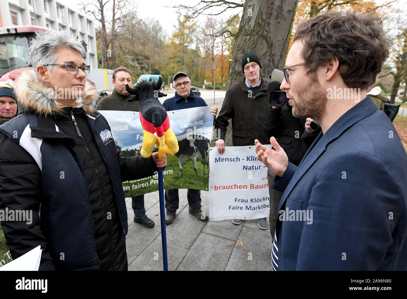
[[[114,111],[139,111],[140,104],[138,101],[127,102],[127,99],[133,98],[126,90],[126,85],[131,86],[131,71],[127,67],[118,67],[113,71],[114,89],[111,95],[101,99],[97,110],[114,110]],[[144,208],[144,194],[131,197],[131,206],[134,211],[134,222],[141,223],[146,228],[152,228],[154,221],[146,215]]]

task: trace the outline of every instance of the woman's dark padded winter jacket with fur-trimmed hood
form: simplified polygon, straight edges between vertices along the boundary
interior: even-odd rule
[[[2,221],[11,256],[41,245],[40,270],[127,270],[121,182],[152,175],[153,159],[118,156],[90,87],[81,107],[61,108],[31,71],[16,93],[21,112],[0,126],[0,209],[33,219]]]

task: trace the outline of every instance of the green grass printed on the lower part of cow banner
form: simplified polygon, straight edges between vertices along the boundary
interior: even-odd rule
[[[208,178],[206,178],[207,167],[205,166],[205,176],[202,173],[202,163],[197,162],[196,175],[192,161],[189,161],[184,165],[182,176],[179,176],[179,163],[176,156],[167,157],[167,166],[164,169],[164,189],[200,189],[208,190]],[[127,187],[125,191],[125,197],[132,197],[145,193],[150,193],[158,190],[158,176],[152,176],[150,178],[140,180],[138,182],[123,183],[123,187]],[[133,185],[148,183],[148,186],[144,186],[142,190],[133,189]],[[136,186],[135,186],[136,187]],[[140,192],[141,191],[141,192]]]

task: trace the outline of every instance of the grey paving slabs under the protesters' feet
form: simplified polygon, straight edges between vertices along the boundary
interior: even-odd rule
[[[202,210],[209,215],[209,192],[201,191]],[[129,233],[126,239],[130,271],[162,271],[160,202],[158,191],[144,195],[146,215],[153,228],[133,222],[131,198],[126,198]],[[209,215],[210,217],[210,215]],[[188,212],[186,189],[179,189],[179,209],[166,225],[168,270],[253,271],[271,268],[270,230],[260,230],[257,219],[234,225],[230,220],[201,221]],[[239,245],[241,241],[243,245]]]

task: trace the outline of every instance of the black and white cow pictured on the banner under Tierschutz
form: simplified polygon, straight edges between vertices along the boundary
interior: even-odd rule
[[[179,176],[182,176],[182,169],[184,169],[184,165],[191,160],[197,176],[197,161],[202,163],[202,171],[204,176],[206,165],[206,177],[208,178],[208,154],[210,149],[210,140],[201,135],[188,135],[178,142],[178,147],[179,150],[176,156],[179,162]]]

